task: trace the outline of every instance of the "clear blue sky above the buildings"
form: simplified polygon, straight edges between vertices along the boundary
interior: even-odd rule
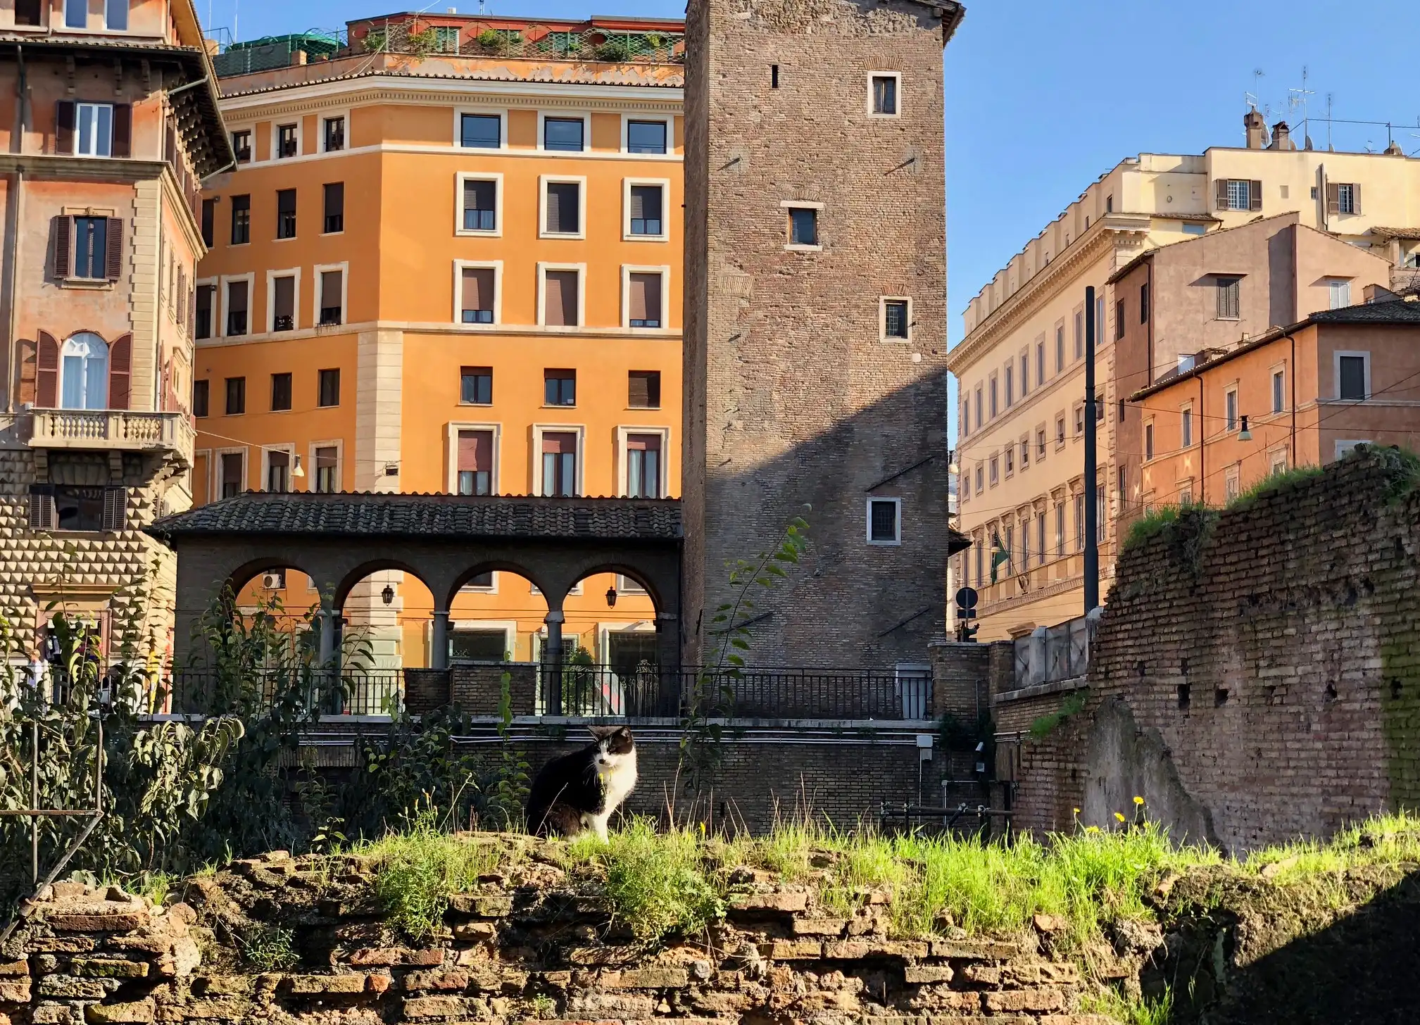
[[[338,27],[408,10],[378,0],[196,0],[199,14],[239,38]],[[477,11],[477,0],[433,10]],[[493,0],[496,14],[680,17],[683,3]],[[294,11],[300,11],[298,14]],[[1346,17],[1342,18],[1342,14]],[[1355,14],[1355,17],[1350,17]],[[1343,21],[1343,23],[1342,23]],[[949,338],[991,275],[1095,177],[1139,152],[1197,153],[1240,145],[1244,94],[1294,125],[1289,89],[1314,118],[1390,121],[1420,152],[1414,16],[1407,3],[1319,0],[1177,4],[1162,0],[968,0],[947,48]],[[1254,78],[1254,71],[1264,75]],[[1407,125],[1409,128],[1399,126]],[[1411,135],[1413,133],[1413,135]],[[1325,145],[1325,126],[1312,138]],[[1386,146],[1384,126],[1333,129],[1338,149]]]

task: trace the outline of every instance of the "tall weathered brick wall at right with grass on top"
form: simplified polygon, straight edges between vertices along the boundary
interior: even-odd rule
[[[1020,748],[1015,825],[1100,826],[1133,795],[1248,850],[1420,805],[1420,491],[1393,450],[1125,552],[1088,703]],[[1028,730],[1064,694],[997,704]]]

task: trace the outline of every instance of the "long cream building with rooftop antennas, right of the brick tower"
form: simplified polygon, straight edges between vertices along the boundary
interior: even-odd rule
[[[1285,125],[1274,126],[1268,139],[1257,112],[1244,124],[1245,148],[1123,160],[967,305],[966,336],[947,368],[958,383],[960,530],[974,542],[957,557],[954,576],[980,592],[978,640],[1011,637],[1083,612],[1083,503],[1091,491],[1103,524],[1100,595],[1108,593],[1120,484],[1126,495],[1136,486],[1120,480],[1115,459],[1119,400],[1152,383],[1143,372],[1130,375],[1137,379],[1116,376],[1116,304],[1126,300],[1126,319],[1140,315],[1140,295],[1116,297],[1108,284],[1116,270],[1152,247],[1289,212],[1304,226],[1386,257],[1397,280],[1420,256],[1414,230],[1420,160],[1397,148],[1386,153],[1298,148]],[[1088,285],[1096,292],[1102,399],[1093,487],[1083,480]],[[1360,298],[1358,287],[1349,301]],[[1184,341],[1176,348],[1194,351]],[[998,566],[993,583],[995,539],[1010,561]]]

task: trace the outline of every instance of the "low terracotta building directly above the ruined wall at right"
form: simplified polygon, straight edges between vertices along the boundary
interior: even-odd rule
[[[1223,505],[1268,474],[1420,434],[1420,301],[1322,309],[1130,396],[1139,505]],[[1245,427],[1245,433],[1244,433]]]

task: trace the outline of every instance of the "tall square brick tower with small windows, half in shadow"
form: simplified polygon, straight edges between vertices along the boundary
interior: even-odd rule
[[[809,521],[750,662],[888,667],[941,632],[951,0],[690,0],[686,657],[726,562]],[[805,511],[804,505],[811,505]]]

